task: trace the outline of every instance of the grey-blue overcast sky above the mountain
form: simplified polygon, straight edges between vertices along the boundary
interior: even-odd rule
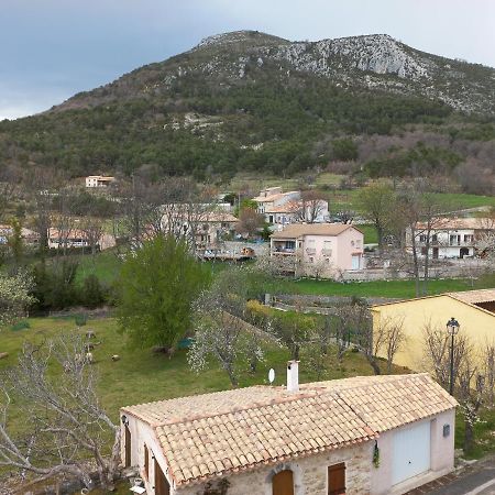
[[[387,33],[495,67],[493,0],[0,0],[0,120],[48,109],[202,37]]]

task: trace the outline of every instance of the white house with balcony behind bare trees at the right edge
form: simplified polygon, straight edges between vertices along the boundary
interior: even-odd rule
[[[415,232],[418,255],[427,254],[438,258],[484,257],[495,250],[495,220],[487,218],[442,218],[436,219],[432,227],[418,224]],[[411,252],[411,229],[406,230],[406,250]]]

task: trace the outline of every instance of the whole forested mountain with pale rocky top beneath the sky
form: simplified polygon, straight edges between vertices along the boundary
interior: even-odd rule
[[[490,188],[494,116],[490,67],[385,34],[293,43],[239,31],[0,122],[0,161],[73,176],[147,167],[199,179],[338,163],[371,176],[448,175],[469,189],[468,167]]]

